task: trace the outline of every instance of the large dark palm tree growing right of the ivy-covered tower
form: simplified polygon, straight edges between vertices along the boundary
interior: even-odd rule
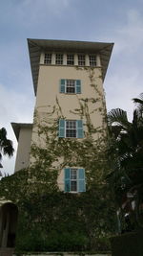
[[[135,201],[135,221],[141,224],[140,208],[143,203],[143,93],[134,98],[136,107],[133,122],[127,112],[112,109],[108,114],[112,173],[108,176],[119,207],[125,201]],[[130,195],[130,199],[128,196]],[[128,209],[129,210],[129,209]]]

